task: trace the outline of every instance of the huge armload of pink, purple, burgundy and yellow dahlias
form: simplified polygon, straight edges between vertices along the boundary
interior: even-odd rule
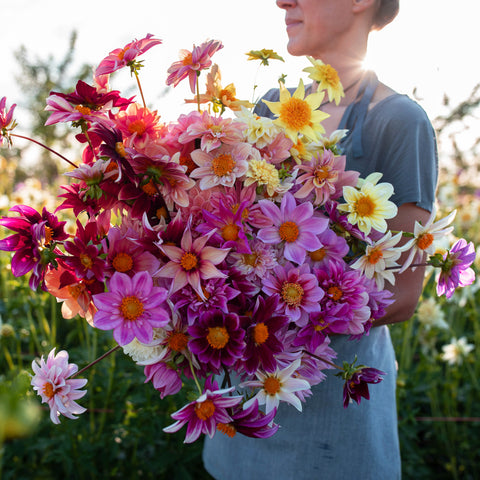
[[[300,81],[292,95],[280,83],[280,101],[267,102],[274,118],[266,118],[238,100],[232,84],[222,87],[211,60],[219,41],[182,50],[167,84],[188,78],[195,96],[188,101],[198,108],[162,123],[143,100],[137,60],[160,43],[148,35],[114,50],[91,85],[79,81],[74,92],[47,98],[47,124],[71,122],[85,148],[80,165],[67,160],[73,180],[55,212],[17,205],[16,215],[0,220],[15,232],[0,241],[14,252],[12,273],[30,272],[31,288],[63,302],[65,318],[78,314],[111,330],[112,350],[123,348],[143,366],[161,398],[185,379],[196,384],[198,398],[164,429],[187,424],[186,442],[217,429],[273,435],[279,402],[301,410],[326,369],[338,368],[345,380],[345,407],[368,399],[368,383],[383,372],[356,360],[335,365],[330,336],[368,335],[394,301],[385,282],[425,258],[439,269],[439,295],[473,282],[471,243],[436,252],[454,212],[437,222],[433,212],[414,232],[387,229],[397,213],[392,186],[378,173],[360,179],[345,171],[337,146],[345,132],[324,136],[328,115],[319,107],[325,94],[338,102],[343,90],[321,61],[310,59],[306,69],[318,91],[306,95]],[[252,58],[280,57],[261,50]],[[110,74],[123,67],[136,77],[141,103],[110,89]],[[13,133],[14,107],[1,100],[7,145],[21,137]],[[76,217],[73,235],[57,217],[65,209]],[[67,352],[53,349],[32,367],[53,422],[85,411],[76,401],[87,380],[76,378]]]

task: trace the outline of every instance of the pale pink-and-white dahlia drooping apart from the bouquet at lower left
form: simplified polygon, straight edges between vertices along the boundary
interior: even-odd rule
[[[68,363],[68,353],[65,350],[55,355],[55,349],[49,354],[47,361],[32,362],[34,376],[31,384],[42,399],[50,407],[50,419],[53,423],[60,423],[59,416],[75,419],[86,411],[75,400],[82,398],[87,391],[79,390],[87,383],[87,379],[69,378],[78,371],[77,365]]]

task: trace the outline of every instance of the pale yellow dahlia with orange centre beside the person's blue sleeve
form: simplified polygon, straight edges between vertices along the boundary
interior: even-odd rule
[[[385,233],[386,219],[397,214],[397,206],[389,201],[393,195],[390,183],[378,183],[381,173],[372,173],[359,181],[357,188],[343,187],[343,197],[347,203],[338,205],[338,209],[348,212],[348,221],[357,225],[359,230],[368,235],[372,228]]]

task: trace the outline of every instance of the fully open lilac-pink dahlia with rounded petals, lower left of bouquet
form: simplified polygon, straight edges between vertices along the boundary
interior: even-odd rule
[[[109,282],[109,291],[93,296],[98,308],[93,319],[100,330],[112,330],[113,338],[123,346],[134,338],[141,343],[150,343],[153,329],[169,322],[169,314],[163,308],[167,290],[154,287],[147,272],[138,272],[133,277],[115,272]]]

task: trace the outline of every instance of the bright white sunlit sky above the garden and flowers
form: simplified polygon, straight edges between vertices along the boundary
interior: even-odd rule
[[[286,52],[284,12],[275,0],[0,0],[0,4],[0,98],[17,103],[19,113],[22,98],[15,76],[20,69],[14,52],[24,45],[30,58],[60,59],[74,29],[79,64],[97,64],[111,50],[147,33],[162,39],[162,45],[143,56],[141,78],[147,103],[165,120],[173,120],[189,96],[187,84],[165,94],[167,68],[177,60],[180,48],[191,49],[207,38],[224,43],[214,60],[223,84],[234,82],[239,98],[250,99],[255,83],[262,93],[282,73],[292,85],[299,77],[306,78],[302,68],[308,62]],[[479,18],[478,0],[401,0],[397,19],[372,34],[368,65],[401,93],[411,94],[416,88],[420,103],[434,117],[442,113],[444,94],[460,101],[480,82]],[[258,71],[257,63],[248,62],[244,54],[261,48],[277,51],[286,62]],[[124,72],[111,84],[121,89],[129,81]]]

